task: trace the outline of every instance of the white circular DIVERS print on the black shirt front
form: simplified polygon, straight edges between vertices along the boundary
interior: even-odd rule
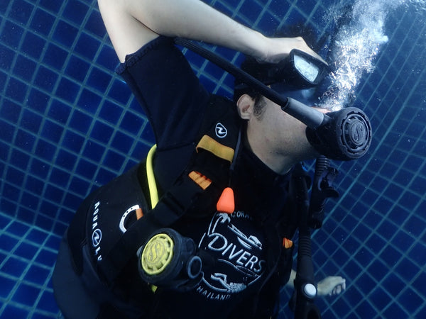
[[[246,235],[226,213],[217,213],[200,248],[217,259],[217,267],[203,269],[204,276],[196,291],[208,299],[227,300],[255,283],[263,274],[262,243],[255,235]]]

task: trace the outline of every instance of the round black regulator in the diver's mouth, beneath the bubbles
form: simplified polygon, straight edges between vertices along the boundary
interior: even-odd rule
[[[312,147],[329,159],[347,161],[366,154],[371,145],[371,123],[359,108],[342,108],[327,113],[327,121],[317,128],[307,128]]]

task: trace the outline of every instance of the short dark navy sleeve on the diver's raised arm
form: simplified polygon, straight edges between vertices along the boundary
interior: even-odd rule
[[[117,72],[148,116],[158,150],[195,141],[209,94],[173,39],[156,38],[128,55]]]

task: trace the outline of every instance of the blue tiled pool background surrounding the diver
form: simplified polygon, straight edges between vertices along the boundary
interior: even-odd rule
[[[371,11],[388,2],[367,3]],[[209,3],[268,34],[307,21],[322,35],[334,1]],[[339,274],[347,284],[338,298],[317,299],[323,318],[426,317],[424,7],[383,11],[388,42],[356,86],[374,138],[362,159],[334,163],[341,197],[313,235],[317,278]],[[231,76],[186,54],[208,89],[230,95]],[[67,223],[153,142],[117,64],[96,1],[0,2],[0,318],[59,316],[50,276]],[[285,304],[281,315],[290,316]]]

